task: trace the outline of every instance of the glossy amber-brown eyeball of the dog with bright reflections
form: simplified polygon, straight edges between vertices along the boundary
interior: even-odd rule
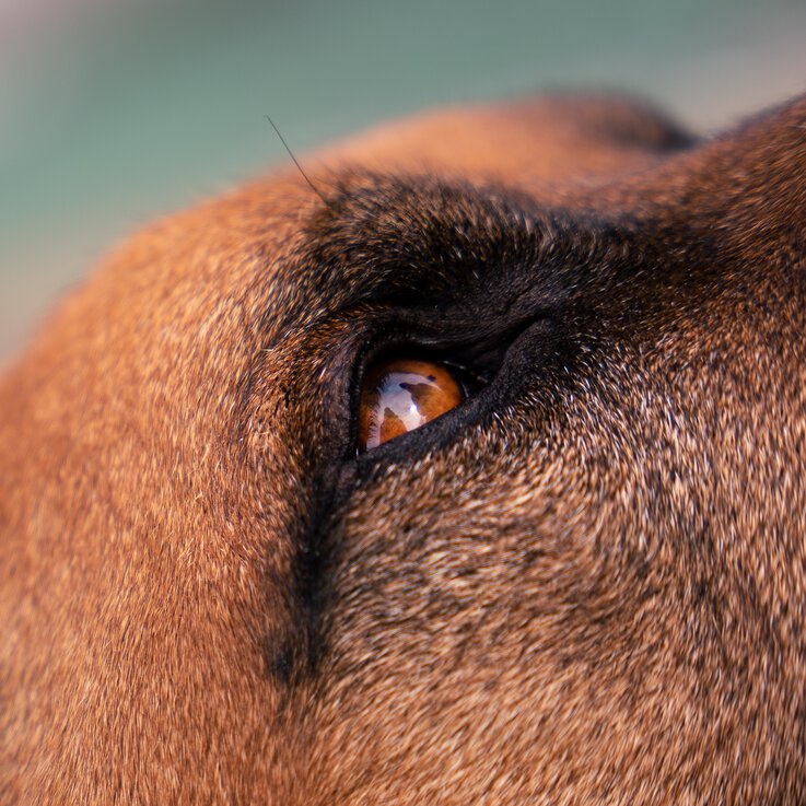
[[[359,451],[371,451],[456,408],[465,396],[440,364],[387,359],[364,377],[359,418]]]

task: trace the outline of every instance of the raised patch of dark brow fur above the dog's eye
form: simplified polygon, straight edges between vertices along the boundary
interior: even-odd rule
[[[598,243],[589,226],[580,230],[568,214],[539,210],[512,191],[429,177],[411,185],[385,177],[350,182],[306,234],[295,265],[303,274],[335,276],[346,293],[330,314],[362,303],[460,302],[483,295],[502,271],[522,291],[554,285],[557,255],[568,256],[566,268],[577,266]]]

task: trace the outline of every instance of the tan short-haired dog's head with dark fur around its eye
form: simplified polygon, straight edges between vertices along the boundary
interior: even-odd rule
[[[806,803],[806,96],[302,164],[4,375],[0,801]]]

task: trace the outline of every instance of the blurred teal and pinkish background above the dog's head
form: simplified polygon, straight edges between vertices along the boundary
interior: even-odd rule
[[[0,362],[121,235],[390,116],[609,87],[701,131],[806,90],[798,0],[0,0]]]

